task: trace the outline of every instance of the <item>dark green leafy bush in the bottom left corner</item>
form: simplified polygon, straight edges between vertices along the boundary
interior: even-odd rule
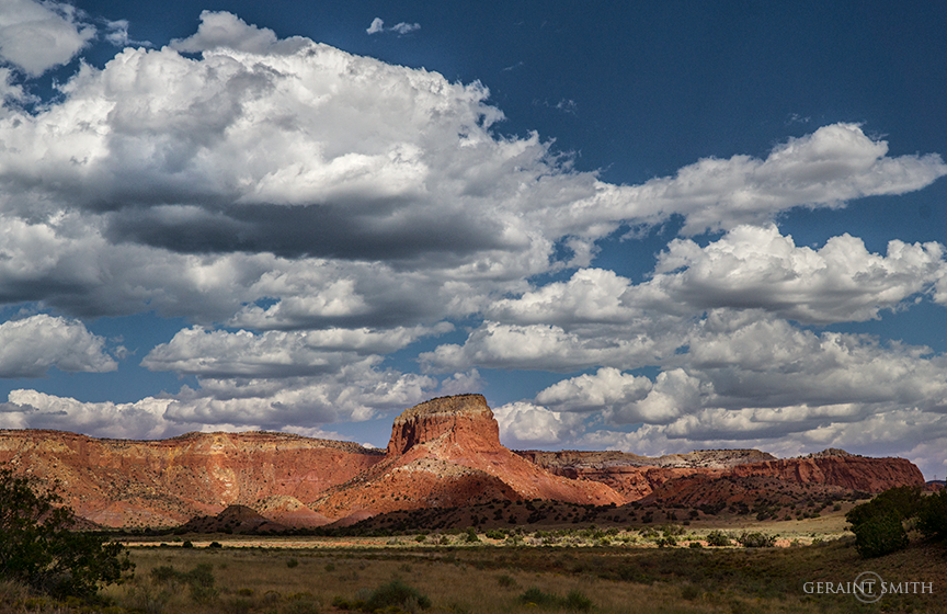
[[[56,595],[89,596],[132,570],[127,550],[76,531],[76,516],[36,479],[0,469],[0,578]]]

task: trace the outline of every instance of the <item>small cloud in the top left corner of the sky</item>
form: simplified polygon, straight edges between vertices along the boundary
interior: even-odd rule
[[[3,0],[0,7],[0,59],[37,77],[68,64],[95,36],[71,4]]]

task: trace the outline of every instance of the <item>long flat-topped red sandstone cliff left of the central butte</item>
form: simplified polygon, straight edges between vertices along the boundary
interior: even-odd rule
[[[282,433],[125,441],[0,431],[0,463],[58,479],[67,504],[105,526],[176,525],[274,496],[308,503],[383,459],[380,452],[355,444]],[[316,522],[313,512],[310,523]]]

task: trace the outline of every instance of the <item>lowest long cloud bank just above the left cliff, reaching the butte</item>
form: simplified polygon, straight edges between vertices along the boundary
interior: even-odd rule
[[[0,406],[0,427],[65,429],[116,437],[167,437],[194,430],[317,432],[417,405],[437,389],[434,378],[379,369],[375,357],[334,374],[279,378],[198,378],[175,395],[134,403],[82,402],[14,390]],[[308,430],[308,431],[300,431]]]

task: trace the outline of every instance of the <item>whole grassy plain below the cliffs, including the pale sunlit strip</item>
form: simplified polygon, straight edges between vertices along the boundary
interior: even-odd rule
[[[862,559],[834,515],[723,527],[731,537],[743,530],[778,533],[787,547],[706,546],[717,528],[521,528],[492,533],[499,538],[463,531],[381,538],[191,535],[132,547],[134,579],[105,589],[101,605],[57,604],[0,584],[0,613],[357,611],[374,603],[373,594],[388,594],[379,589],[393,590],[392,581],[417,592],[381,609],[389,613],[947,612],[943,546],[915,543]],[[184,547],[185,541],[193,547]],[[658,547],[671,542],[675,545]],[[929,589],[872,604],[853,594],[806,592],[807,582],[844,584],[863,571]]]

